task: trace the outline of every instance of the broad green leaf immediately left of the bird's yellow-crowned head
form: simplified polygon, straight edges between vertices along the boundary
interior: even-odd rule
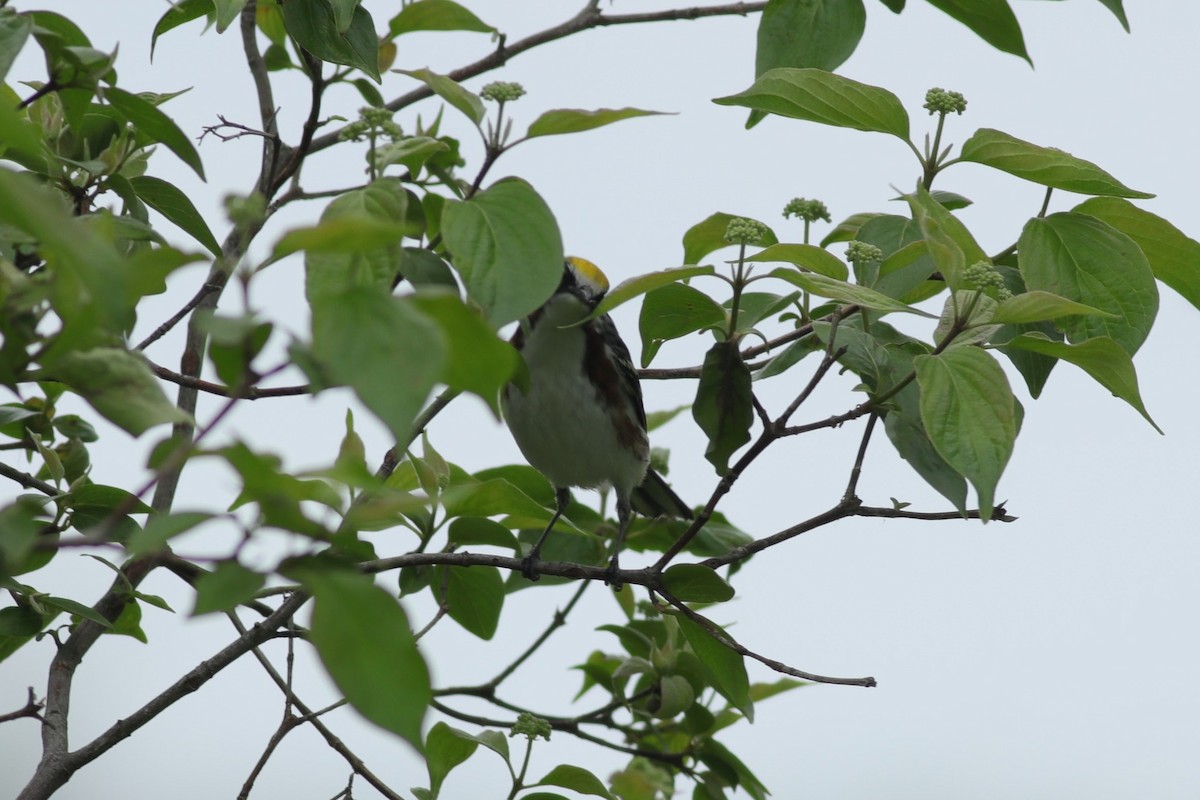
[[[550,206],[515,178],[448,200],[442,235],[467,294],[493,325],[538,308],[563,277],[563,239]]]

